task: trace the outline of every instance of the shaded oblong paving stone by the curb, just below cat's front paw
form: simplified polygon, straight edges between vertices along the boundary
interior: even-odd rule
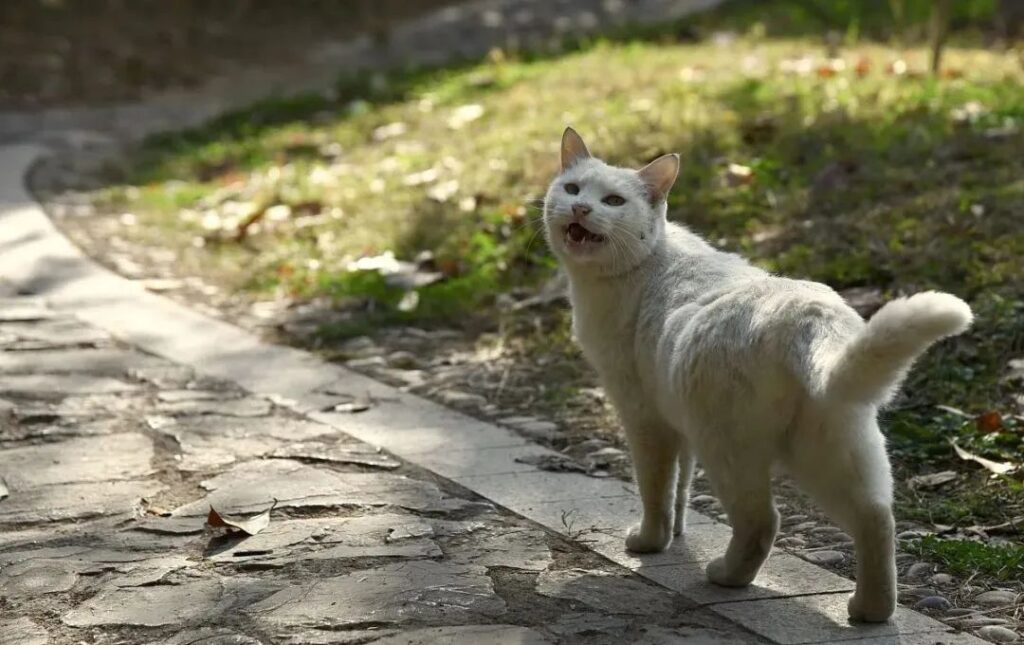
[[[537,593],[575,600],[608,613],[653,614],[673,606],[665,590],[593,569],[543,571],[537,578]]]

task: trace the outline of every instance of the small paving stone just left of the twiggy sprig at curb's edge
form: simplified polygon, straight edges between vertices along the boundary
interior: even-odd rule
[[[544,531],[522,526],[477,531],[466,540],[465,548],[458,542],[449,548],[454,562],[482,566],[507,566],[527,571],[543,571],[551,565],[551,549]]]

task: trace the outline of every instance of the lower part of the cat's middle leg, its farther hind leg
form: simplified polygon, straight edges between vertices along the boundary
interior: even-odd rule
[[[759,461],[740,466],[728,458],[709,461],[703,456],[701,460],[732,524],[729,546],[724,556],[708,565],[708,579],[723,587],[745,587],[768,559],[778,532],[770,464]]]

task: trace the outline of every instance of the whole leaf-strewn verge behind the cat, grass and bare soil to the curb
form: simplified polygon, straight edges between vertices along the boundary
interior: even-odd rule
[[[799,34],[807,16],[755,10],[752,26],[750,6],[566,55],[352,79],[336,98],[153,141],[111,189],[57,197],[61,173],[45,168],[37,183],[66,230],[122,273],[505,419],[564,449],[552,468],[625,476],[567,312],[538,297],[552,263],[536,200],[566,121],[613,162],[681,150],[671,215],[720,246],[826,282],[865,315],[928,288],[971,301],[975,330],[933,350],[887,414],[901,600],[977,606],[989,588],[1020,591],[1020,480],[949,445],[1020,459],[1022,377],[1007,362],[1024,351],[1019,60],[965,36],[931,79],[921,49],[766,38]],[[723,25],[742,31],[716,34]],[[350,270],[360,257],[378,268]],[[781,497],[779,544],[849,572],[848,539]],[[955,624],[979,617],[929,602]],[[985,611],[1020,617],[1013,599]]]

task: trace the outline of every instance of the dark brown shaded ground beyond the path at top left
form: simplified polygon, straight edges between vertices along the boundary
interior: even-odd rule
[[[10,0],[0,6],[0,107],[137,99],[308,57],[459,0]]]

